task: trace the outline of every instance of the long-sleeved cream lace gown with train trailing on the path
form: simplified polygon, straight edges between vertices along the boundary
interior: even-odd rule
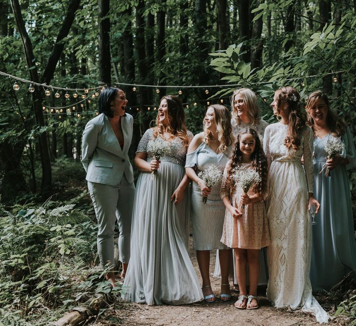
[[[318,322],[327,323],[328,315],[313,297],[309,280],[312,245],[308,192],[313,192],[314,186],[313,134],[304,127],[298,150],[288,150],[283,144],[287,126],[270,124],[263,138],[269,165],[267,217],[271,233],[267,296],[277,308],[301,308],[313,313]]]

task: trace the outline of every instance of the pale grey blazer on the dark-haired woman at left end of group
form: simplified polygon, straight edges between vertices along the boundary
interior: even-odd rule
[[[134,119],[126,113],[120,121],[124,138],[122,150],[109,119],[103,113],[86,124],[81,145],[81,163],[87,181],[117,185],[125,174],[129,183],[134,182],[134,173],[127,154]]]

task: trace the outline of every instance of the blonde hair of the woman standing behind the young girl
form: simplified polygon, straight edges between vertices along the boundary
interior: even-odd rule
[[[237,125],[241,123],[241,120],[237,115],[237,110],[234,107],[234,101],[237,95],[241,95],[243,102],[247,107],[247,114],[251,119],[251,124],[258,124],[259,120],[261,119],[261,114],[258,108],[256,93],[249,88],[240,88],[236,89],[233,95],[231,96],[231,114],[232,117],[235,119]]]

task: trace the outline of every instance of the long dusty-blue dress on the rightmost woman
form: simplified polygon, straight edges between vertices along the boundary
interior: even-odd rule
[[[328,290],[336,285],[347,273],[356,269],[356,242],[351,204],[351,193],[347,169],[356,165],[354,139],[347,127],[342,139],[345,143],[342,157],[349,164],[338,164],[325,177],[322,170],[328,154],[325,144],[330,133],[324,138],[314,139],[314,197],[320,203],[313,225],[312,264],[310,281],[313,290]]]

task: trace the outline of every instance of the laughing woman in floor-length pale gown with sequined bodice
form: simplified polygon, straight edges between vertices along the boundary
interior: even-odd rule
[[[158,138],[168,145],[159,161],[152,151]],[[192,138],[185,127],[181,101],[164,96],[157,126],[144,133],[135,157],[140,174],[132,217],[131,258],[123,283],[126,291],[122,297],[127,301],[181,305],[203,299],[187,251],[190,196],[184,163]]]

